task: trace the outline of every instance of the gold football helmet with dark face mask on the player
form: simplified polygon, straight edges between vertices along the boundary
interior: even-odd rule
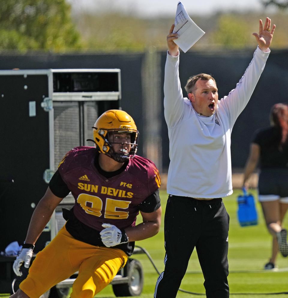
[[[91,141],[95,143],[99,152],[107,154],[118,162],[125,162],[136,154],[139,131],[132,117],[125,111],[109,110],[104,112],[92,128],[94,129],[94,140]],[[116,132],[131,133],[130,143],[115,142],[114,133]],[[111,135],[113,135],[113,142],[109,141]],[[114,152],[112,144],[122,144],[122,153]],[[123,149],[125,144],[131,145],[129,152],[125,152],[125,149]]]

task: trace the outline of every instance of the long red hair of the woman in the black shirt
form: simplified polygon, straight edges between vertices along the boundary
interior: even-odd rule
[[[281,130],[282,135],[279,149],[282,149],[288,135],[288,105],[283,103],[273,105],[270,111],[270,120],[274,127],[280,128]]]

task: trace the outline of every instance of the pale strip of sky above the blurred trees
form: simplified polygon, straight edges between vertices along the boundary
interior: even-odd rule
[[[124,10],[136,13],[138,16],[169,16],[176,12],[177,0],[67,0],[74,10]],[[264,10],[261,0],[182,0],[189,15],[211,15],[219,11],[247,11],[257,10],[263,13],[272,12],[269,8]]]

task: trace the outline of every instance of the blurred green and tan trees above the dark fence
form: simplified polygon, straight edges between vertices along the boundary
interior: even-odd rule
[[[279,8],[273,16],[269,15],[276,26],[279,24],[273,47],[287,48],[288,0],[259,1],[264,10],[269,6]],[[231,11],[207,17],[192,15],[193,21],[206,32],[193,48],[253,47],[251,33],[257,32],[257,19],[263,19],[266,16],[263,14]],[[72,13],[65,0],[1,0],[0,50],[140,52],[150,47],[163,50],[172,22],[173,16],[144,19],[113,10]]]

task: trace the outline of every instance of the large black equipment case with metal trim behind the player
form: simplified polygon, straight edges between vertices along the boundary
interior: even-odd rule
[[[34,208],[65,153],[93,146],[92,126],[109,109],[119,109],[120,69],[41,69],[0,71],[0,251],[25,240]],[[44,248],[72,207],[68,195],[36,242]],[[10,258],[8,258],[10,259]],[[10,293],[12,261],[0,256],[0,293]]]

